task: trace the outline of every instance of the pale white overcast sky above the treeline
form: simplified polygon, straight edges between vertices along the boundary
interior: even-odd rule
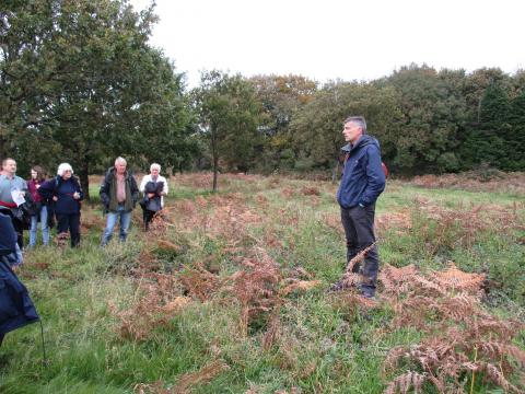
[[[149,0],[131,0],[138,10]],[[523,0],[156,0],[151,44],[200,70],[372,80],[410,62],[525,68]]]

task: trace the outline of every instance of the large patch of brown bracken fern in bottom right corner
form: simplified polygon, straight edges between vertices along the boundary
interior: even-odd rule
[[[385,372],[416,364],[440,393],[462,392],[465,376],[475,373],[505,391],[520,392],[509,376],[515,376],[516,364],[525,364],[525,352],[512,343],[524,325],[485,311],[483,279],[453,264],[427,275],[413,266],[385,267],[381,281],[395,311],[392,328],[408,325],[428,334],[419,345],[390,349]],[[409,390],[410,379],[411,372],[401,374],[390,381],[387,392]]]

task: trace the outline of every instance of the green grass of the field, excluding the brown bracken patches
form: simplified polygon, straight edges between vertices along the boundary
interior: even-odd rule
[[[316,187],[319,195],[303,195],[305,186]],[[48,363],[43,362],[38,325],[8,334],[0,348],[0,393],[132,393],[139,383],[155,382],[168,389],[176,386],[183,375],[218,359],[228,369],[194,385],[194,392],[244,393],[252,389],[275,393],[294,389],[303,393],[382,393],[388,381],[383,374],[388,349],[417,344],[421,334],[413,328],[386,329],[393,316],[386,305],[355,310],[327,291],[341,275],[346,256],[342,231],[337,227],[336,186],[276,177],[222,176],[220,187],[219,198],[244,206],[259,215],[260,221],[246,224],[246,230],[229,232],[225,228],[224,234],[229,235],[222,236],[203,224],[185,229],[188,217],[174,209],[170,218],[176,225],[161,234],[183,246],[174,252],[159,248],[151,234],[140,230],[137,210],[124,246],[115,243],[101,248],[102,224],[83,233],[79,250],[51,246],[27,252],[20,276],[43,320]],[[202,186],[192,187],[190,178],[178,183],[175,177],[171,190],[167,208],[197,197],[211,201],[198,208],[196,215],[206,209],[213,224],[217,195]],[[90,192],[96,196],[97,185]],[[390,182],[377,202],[376,215],[407,211],[412,216],[412,228],[381,230],[382,263],[416,264],[430,270],[442,269],[447,260],[454,260],[466,271],[486,273],[491,286],[486,308],[500,316],[525,320],[523,197],[423,189]],[[464,225],[457,223],[446,229],[447,242],[440,244],[432,233],[438,223],[416,213],[418,199],[458,211],[479,205],[515,209],[522,227],[514,223],[505,233],[483,229],[471,244],[464,245],[454,242]],[[97,206],[84,204],[82,215],[84,221],[103,223]],[[327,218],[332,218],[336,225],[329,225]],[[119,321],[112,308],[129,308],[140,298],[137,279],[130,274],[141,264],[142,251],[151,250],[160,271],[171,271],[179,264],[196,267],[202,263],[218,267],[219,277],[226,278],[242,265],[225,248],[255,245],[275,258],[283,277],[300,267],[322,283],[285,298],[279,310],[280,338],[270,349],[262,347],[265,322],[250,326],[246,337],[240,336],[240,304],[226,290],[203,302],[192,299],[166,325],[154,327],[143,341],[120,337]],[[236,257],[243,256],[243,248],[240,251]],[[525,348],[525,334],[518,336],[517,345]],[[497,390],[478,383],[475,392]]]

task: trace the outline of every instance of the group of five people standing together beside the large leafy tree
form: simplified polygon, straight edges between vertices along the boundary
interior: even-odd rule
[[[117,158],[101,185],[100,196],[107,215],[106,227],[102,236],[102,245],[107,245],[113,231],[119,221],[120,241],[126,241],[131,212],[140,199],[143,209],[143,223],[148,230],[154,215],[164,207],[164,196],[168,186],[164,176],[160,175],[161,166],[151,164],[150,174],[145,175],[137,186],[133,175],[127,170],[124,158]],[[37,243],[37,228],[40,223],[42,243],[49,244],[49,228],[57,225],[58,237],[71,239],[71,246],[80,244],[80,212],[84,197],[79,179],[73,175],[69,163],[58,166],[57,175],[46,179],[43,169],[35,165],[31,169],[31,178],[25,181],[16,175],[16,161],[11,158],[2,160],[0,173],[0,215],[10,218],[16,234],[18,251],[24,247],[24,228],[30,229],[30,247]],[[68,235],[69,233],[69,235]],[[14,265],[22,262],[18,253]]]

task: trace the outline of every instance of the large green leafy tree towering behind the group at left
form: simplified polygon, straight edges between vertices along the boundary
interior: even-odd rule
[[[156,144],[166,134],[175,144],[187,140],[182,76],[148,45],[152,8],[138,13],[116,0],[10,1],[1,20],[2,153],[23,141],[34,162],[69,161],[89,193],[97,163],[119,154],[167,155],[161,148],[173,143]]]

